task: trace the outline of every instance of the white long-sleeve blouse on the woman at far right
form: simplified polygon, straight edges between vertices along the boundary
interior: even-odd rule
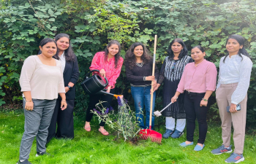
[[[241,58],[241,56],[243,58]],[[219,61],[219,79],[217,89],[222,84],[232,84],[238,82],[236,90],[231,96],[232,104],[239,104],[244,100],[247,90],[249,88],[249,82],[252,71],[252,61],[246,55],[229,55],[222,57]]]

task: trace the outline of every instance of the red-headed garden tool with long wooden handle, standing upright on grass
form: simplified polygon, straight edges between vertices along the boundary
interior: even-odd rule
[[[152,76],[154,76],[154,67],[156,63],[156,49],[157,49],[157,35],[154,36],[154,60],[153,60],[153,71]],[[151,90],[153,91],[153,81],[151,82]],[[149,117],[149,129],[140,130],[140,138],[148,139],[151,138],[151,141],[161,143],[162,134],[157,131],[151,130],[151,122],[152,122],[152,108],[153,108],[153,93],[151,94],[150,100],[150,117]]]

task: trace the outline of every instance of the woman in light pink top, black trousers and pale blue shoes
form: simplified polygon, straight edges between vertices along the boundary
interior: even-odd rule
[[[195,62],[188,63],[184,69],[181,81],[178,83],[176,94],[171,99],[176,102],[178,95],[185,91],[184,109],[187,118],[187,141],[181,147],[193,144],[195,119],[199,124],[199,139],[195,151],[205,147],[207,122],[206,114],[209,109],[208,98],[214,92],[217,81],[217,69],[214,63],[204,59],[206,52],[203,47],[195,46],[191,50],[191,57]]]

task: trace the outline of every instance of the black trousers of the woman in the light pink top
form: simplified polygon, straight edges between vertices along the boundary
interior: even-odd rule
[[[208,125],[206,122],[206,114],[209,106],[200,106],[200,101],[205,93],[188,93],[185,91],[184,109],[187,118],[187,141],[194,140],[195,119],[199,125],[199,138],[197,143],[204,144]]]

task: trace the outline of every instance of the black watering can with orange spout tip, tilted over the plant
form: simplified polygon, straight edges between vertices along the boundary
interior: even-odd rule
[[[102,77],[99,76],[99,74],[94,74],[93,76],[89,77],[91,72],[99,70],[94,69],[89,71],[86,74],[86,77],[83,79],[83,82],[81,82],[81,86],[83,87],[83,90],[86,91],[89,95],[96,95],[96,94],[108,94],[108,95],[113,95],[116,98],[121,95],[114,95],[112,93],[107,93],[106,90],[104,89],[105,87],[108,86],[108,79],[105,77],[105,81],[102,79]]]

